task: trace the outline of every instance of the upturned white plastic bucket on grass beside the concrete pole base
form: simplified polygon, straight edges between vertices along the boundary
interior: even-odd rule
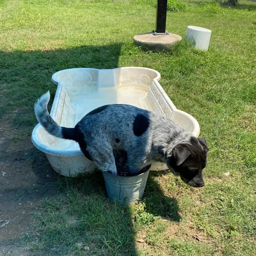
[[[196,49],[207,51],[211,38],[211,30],[196,26],[188,26],[185,39],[193,44]]]

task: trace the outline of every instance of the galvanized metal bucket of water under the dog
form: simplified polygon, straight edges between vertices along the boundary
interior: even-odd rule
[[[133,177],[115,176],[103,172],[108,197],[121,205],[131,205],[141,198],[147,182],[149,170]]]

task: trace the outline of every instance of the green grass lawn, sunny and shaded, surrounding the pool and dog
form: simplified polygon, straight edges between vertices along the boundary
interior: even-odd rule
[[[0,119],[24,127],[12,140],[30,136],[34,102],[48,89],[52,103],[54,72],[140,66],[161,73],[161,86],[198,120],[210,148],[205,187],[151,172],[143,201],[131,207],[109,201],[101,173],[60,177],[58,196],[31,212],[38,224],[23,243],[35,254],[255,255],[256,12],[196,3],[169,12],[171,33],[211,29],[209,50],[181,41],[154,54],[132,38],[154,29],[155,11],[132,1],[0,1]]]

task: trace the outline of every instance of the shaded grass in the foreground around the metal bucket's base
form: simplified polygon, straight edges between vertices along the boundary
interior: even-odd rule
[[[30,247],[34,252],[44,250],[55,255],[140,255],[136,230],[152,223],[147,223],[147,219],[136,220],[138,208],[142,206],[143,212],[169,220],[180,219],[176,200],[166,197],[155,181],[161,175],[162,172],[150,173],[145,197],[131,207],[109,200],[100,171],[73,178],[59,177],[61,193],[44,199],[33,213],[38,219],[35,230],[40,233],[40,241],[35,243],[35,235],[31,234]]]

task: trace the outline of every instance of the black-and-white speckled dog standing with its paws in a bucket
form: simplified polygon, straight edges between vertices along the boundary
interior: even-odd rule
[[[117,174],[113,152],[127,152],[130,176],[153,162],[166,163],[188,185],[204,186],[207,163],[204,137],[197,138],[165,115],[126,104],[104,105],[85,115],[74,128],[61,127],[50,116],[49,91],[35,104],[38,122],[51,135],[76,141],[102,172]]]

